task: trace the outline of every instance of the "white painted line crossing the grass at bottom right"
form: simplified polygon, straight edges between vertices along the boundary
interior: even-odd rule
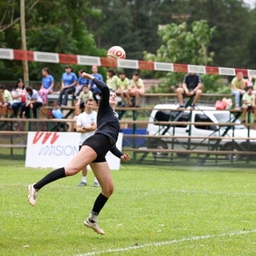
[[[252,234],[252,233],[256,233],[256,229],[255,230],[248,230],[248,231],[233,231],[231,233],[224,233],[224,234],[206,234],[206,235],[202,235],[202,236],[194,236],[194,237],[190,237],[190,238],[174,239],[174,240],[170,240],[170,241],[145,243],[145,244],[138,245],[138,246],[127,246],[127,247],[123,247],[123,248],[92,251],[92,252],[85,253],[85,254],[76,254],[75,256],[94,256],[94,255],[110,254],[110,253],[114,254],[114,253],[119,253],[119,252],[122,252],[122,251],[138,250],[138,249],[147,248],[147,247],[166,246],[166,245],[181,243],[181,242],[191,242],[191,241],[205,240],[205,239],[208,239],[208,238],[222,238],[222,237],[226,237],[226,236],[227,237],[232,237],[234,235]]]

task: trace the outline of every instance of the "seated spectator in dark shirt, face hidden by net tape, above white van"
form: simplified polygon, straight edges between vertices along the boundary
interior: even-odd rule
[[[179,108],[184,107],[183,94],[188,97],[194,96],[194,100],[191,103],[191,107],[194,108],[202,94],[202,81],[199,74],[189,73],[183,79],[182,87],[176,90]]]

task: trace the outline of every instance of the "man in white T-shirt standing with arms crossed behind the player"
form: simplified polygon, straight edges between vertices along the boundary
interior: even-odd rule
[[[88,87],[88,86],[87,86]],[[91,93],[91,92],[90,92]],[[78,114],[77,118],[77,126],[76,131],[81,133],[80,141],[79,141],[79,150],[81,150],[82,143],[94,134],[97,124],[97,112],[94,111],[94,98],[87,98],[84,102],[85,110],[81,114]],[[78,186],[86,186],[87,185],[87,166],[82,168],[82,181],[78,184]],[[97,178],[94,179],[94,186],[98,187]]]

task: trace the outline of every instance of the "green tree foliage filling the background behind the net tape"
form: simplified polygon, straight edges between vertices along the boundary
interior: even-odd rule
[[[19,1],[0,0],[0,10],[0,47],[20,49]],[[159,55],[168,62],[254,69],[255,11],[242,0],[26,0],[27,46],[28,50],[105,56],[110,46],[120,45],[130,59],[142,59],[146,51],[148,59]],[[161,26],[165,30],[158,30]],[[174,35],[168,40],[170,33]],[[43,66],[51,66],[54,76],[63,67],[29,66],[31,80],[41,79]],[[21,62],[4,61],[0,72],[2,79],[16,80],[22,76]],[[158,78],[163,73],[143,74]],[[180,80],[177,75],[177,82],[167,83]]]

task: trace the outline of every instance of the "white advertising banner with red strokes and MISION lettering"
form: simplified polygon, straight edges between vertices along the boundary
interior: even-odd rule
[[[65,132],[29,132],[26,147],[26,167],[59,168],[66,166],[78,154],[80,134]],[[122,133],[117,147],[122,150]],[[119,170],[120,159],[108,152],[110,170]]]

